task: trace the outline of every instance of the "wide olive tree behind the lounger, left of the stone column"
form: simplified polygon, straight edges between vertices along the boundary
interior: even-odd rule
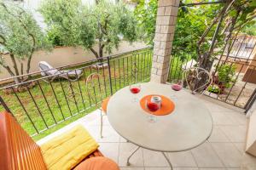
[[[40,12],[49,26],[51,41],[58,45],[82,46],[102,59],[119,47],[121,37],[129,42],[137,40],[137,21],[123,3],[97,1],[94,6],[80,0],[46,0]],[[93,46],[97,44],[97,50]]]

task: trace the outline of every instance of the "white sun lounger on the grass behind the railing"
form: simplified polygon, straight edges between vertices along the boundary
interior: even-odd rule
[[[76,69],[76,70],[65,70],[65,71],[59,71],[49,65],[46,61],[40,61],[38,63],[39,70],[41,71],[41,75],[43,77],[45,76],[51,76],[50,77],[50,82],[54,81],[58,77],[65,78],[69,81],[77,81],[79,78],[82,76],[83,71]]]

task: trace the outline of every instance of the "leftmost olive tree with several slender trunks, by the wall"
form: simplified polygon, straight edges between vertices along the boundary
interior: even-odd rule
[[[0,53],[0,65],[11,77],[20,76],[24,73],[23,63],[26,59],[26,73],[29,73],[34,51],[49,48],[44,33],[31,12],[18,4],[0,1],[0,23],[0,46],[3,51],[9,52],[12,61],[12,65],[9,65]],[[15,82],[20,81],[21,78],[15,78]]]

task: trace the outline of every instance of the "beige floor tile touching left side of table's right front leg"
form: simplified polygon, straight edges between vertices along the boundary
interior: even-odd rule
[[[143,157],[145,167],[169,167],[161,152],[143,149]]]

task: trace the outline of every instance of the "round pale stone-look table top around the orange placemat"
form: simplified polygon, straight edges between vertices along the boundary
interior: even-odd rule
[[[148,121],[140,103],[132,102],[129,87],[113,94],[108,102],[108,121],[123,138],[149,150],[175,152],[190,150],[202,144],[212,133],[212,116],[201,99],[186,90],[174,91],[171,85],[146,82],[141,84],[138,99],[148,94],[164,95],[175,103],[166,116]]]

